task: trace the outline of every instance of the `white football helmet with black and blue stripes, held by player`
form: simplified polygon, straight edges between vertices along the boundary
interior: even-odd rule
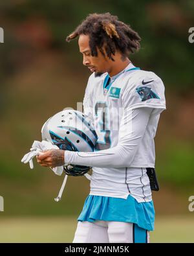
[[[50,117],[41,129],[42,139],[62,150],[92,152],[98,136],[87,115],[76,110],[63,110]],[[81,176],[91,167],[64,165],[67,175]]]

